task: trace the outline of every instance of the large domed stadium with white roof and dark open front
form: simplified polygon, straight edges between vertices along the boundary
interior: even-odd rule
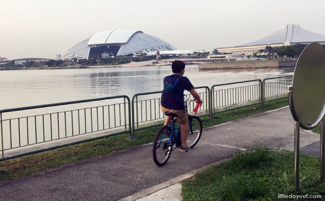
[[[142,31],[118,29],[95,33],[71,47],[62,58],[89,59],[166,50],[176,48]]]

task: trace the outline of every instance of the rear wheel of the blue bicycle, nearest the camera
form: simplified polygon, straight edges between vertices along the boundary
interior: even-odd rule
[[[168,125],[162,126],[153,142],[152,156],[156,165],[163,166],[167,163],[172,152],[172,141],[169,140],[172,129]]]

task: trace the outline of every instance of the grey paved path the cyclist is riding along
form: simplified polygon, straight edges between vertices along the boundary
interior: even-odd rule
[[[238,149],[262,146],[293,151],[293,126],[288,107],[252,115],[204,129],[193,150],[175,150],[163,167],[154,164],[151,144],[126,148],[2,182],[0,200],[111,201],[132,194],[125,200],[135,200],[160,190],[159,184],[177,184],[185,173],[227,158]],[[319,139],[301,130],[301,150],[319,152]]]

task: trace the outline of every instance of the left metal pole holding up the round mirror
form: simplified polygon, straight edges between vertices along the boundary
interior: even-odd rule
[[[300,123],[294,122],[294,192],[299,190],[299,132]]]

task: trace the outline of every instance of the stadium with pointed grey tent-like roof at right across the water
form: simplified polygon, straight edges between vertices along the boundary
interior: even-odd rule
[[[318,42],[325,44],[325,35],[304,30],[297,25],[289,24],[275,33],[266,36],[260,40],[246,43],[243,45],[217,48],[220,53],[253,53],[264,49],[266,46],[289,46],[295,44],[309,44]]]

